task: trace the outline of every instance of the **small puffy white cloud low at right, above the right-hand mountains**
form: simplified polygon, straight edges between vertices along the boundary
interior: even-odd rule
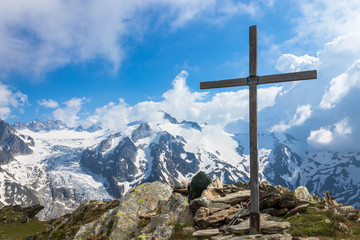
[[[352,129],[349,126],[348,118],[344,118],[333,126],[321,127],[319,130],[311,131],[307,142],[315,148],[328,147],[329,149],[333,148],[336,143],[341,145],[351,133]]]

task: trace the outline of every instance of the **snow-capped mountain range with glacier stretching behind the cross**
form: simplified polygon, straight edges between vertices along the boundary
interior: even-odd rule
[[[42,219],[71,212],[85,200],[120,197],[143,182],[185,183],[200,170],[225,183],[249,180],[249,136],[232,131],[238,124],[225,131],[167,113],[161,122],[133,122],[121,131],[40,123],[0,129],[2,151],[10,139],[2,136],[9,133],[31,151],[0,155],[0,204],[40,203]],[[290,189],[305,185],[319,195],[326,190],[359,208],[360,153],[311,152],[306,146],[288,134],[259,134],[261,180]]]

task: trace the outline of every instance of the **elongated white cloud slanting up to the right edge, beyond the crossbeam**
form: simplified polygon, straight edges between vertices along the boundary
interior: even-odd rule
[[[335,107],[354,88],[360,88],[360,59],[346,72],[331,80],[329,89],[321,99],[320,108]]]

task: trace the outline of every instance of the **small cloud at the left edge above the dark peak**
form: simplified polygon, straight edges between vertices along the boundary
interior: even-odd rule
[[[27,95],[14,91],[9,86],[0,82],[0,118],[7,119],[11,116],[13,108],[21,108],[28,103]]]

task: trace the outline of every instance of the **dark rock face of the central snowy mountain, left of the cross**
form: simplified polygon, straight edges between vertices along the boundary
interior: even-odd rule
[[[186,152],[185,140],[168,132],[153,135],[147,123],[141,123],[130,137],[121,139],[121,134],[110,135],[94,149],[86,149],[81,156],[81,166],[92,173],[106,178],[112,196],[124,194],[125,182],[135,186],[143,182],[162,181],[178,185],[179,175],[196,173],[199,160],[194,153]],[[150,144],[136,143],[143,138],[153,137]],[[116,146],[113,144],[119,141]],[[139,152],[145,152],[147,159],[137,159]],[[143,172],[144,175],[139,175]],[[180,174],[179,174],[180,173]]]

